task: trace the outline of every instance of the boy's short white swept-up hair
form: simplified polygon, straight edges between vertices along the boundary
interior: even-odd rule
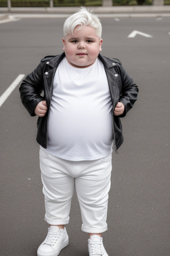
[[[78,30],[84,26],[92,27],[96,30],[96,35],[101,39],[102,37],[102,24],[97,15],[89,12],[85,7],[81,7],[76,13],[72,14],[64,22],[63,32],[64,37],[68,34],[73,34],[74,29],[78,27]]]

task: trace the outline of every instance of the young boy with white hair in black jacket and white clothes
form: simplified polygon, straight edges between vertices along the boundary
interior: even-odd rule
[[[21,100],[39,117],[37,141],[50,225],[38,256],[56,256],[68,245],[65,225],[74,187],[90,256],[108,256],[107,230],[112,146],[123,143],[124,117],[137,99],[137,85],[117,59],[100,55],[102,25],[82,7],[64,23],[64,53],[48,56],[24,79]],[[41,95],[42,91],[44,96]]]

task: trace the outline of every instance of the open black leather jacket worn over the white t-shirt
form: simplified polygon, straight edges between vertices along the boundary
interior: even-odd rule
[[[44,57],[37,68],[27,75],[21,83],[19,88],[21,101],[31,116],[35,116],[35,107],[42,100],[46,100],[48,110],[50,109],[54,74],[60,61],[62,61],[64,57],[64,53]],[[137,100],[138,88],[118,59],[110,59],[100,54],[98,58],[104,64],[108,85],[110,87],[110,95],[113,103],[114,148],[117,151],[124,141],[122,124],[119,117],[124,117],[129,109],[133,107],[133,104]],[[42,91],[44,95],[42,95]],[[114,115],[114,108],[118,101],[124,103],[125,106],[124,114],[119,117]],[[37,142],[44,148],[47,146],[48,139],[47,125],[48,111],[44,117],[39,117],[37,121]]]

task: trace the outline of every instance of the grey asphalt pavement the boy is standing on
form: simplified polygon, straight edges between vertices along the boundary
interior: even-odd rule
[[[64,20],[14,17],[0,23],[0,97],[42,57],[62,52]],[[122,119],[124,144],[118,155],[113,154],[104,245],[110,256],[169,256],[170,17],[100,20],[102,54],[120,59],[139,86],[139,99]],[[0,255],[36,256],[48,225],[35,141],[37,118],[21,104],[19,85],[0,107],[0,119]],[[74,195],[67,226],[70,243],[60,256],[88,256],[88,236],[81,224]]]

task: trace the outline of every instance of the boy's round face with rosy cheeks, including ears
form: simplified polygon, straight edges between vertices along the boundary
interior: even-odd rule
[[[74,35],[67,35],[62,42],[68,63],[83,68],[89,67],[96,61],[102,51],[103,40],[99,39],[94,28],[85,26],[78,31],[74,29]]]

